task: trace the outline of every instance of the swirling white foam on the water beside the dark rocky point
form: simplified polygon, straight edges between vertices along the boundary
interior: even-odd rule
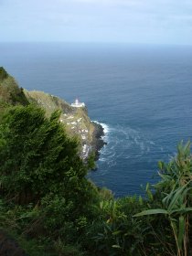
[[[101,171],[109,170],[109,167],[130,157],[137,161],[141,156],[149,158],[150,153],[155,151],[155,142],[139,130],[122,125],[112,127],[106,123],[100,124],[104,129],[103,140],[107,143],[100,151],[98,165]]]

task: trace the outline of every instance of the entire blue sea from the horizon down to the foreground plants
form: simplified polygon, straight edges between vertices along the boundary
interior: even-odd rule
[[[0,66],[27,90],[78,97],[104,123],[89,178],[116,197],[142,194],[157,162],[192,136],[192,47],[1,43]]]

